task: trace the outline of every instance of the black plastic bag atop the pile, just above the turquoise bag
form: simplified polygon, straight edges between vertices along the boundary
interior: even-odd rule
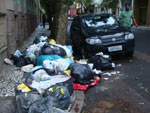
[[[61,47],[57,47],[52,44],[45,44],[42,47],[41,54],[42,55],[59,55],[59,56],[64,57],[66,56],[66,51]]]

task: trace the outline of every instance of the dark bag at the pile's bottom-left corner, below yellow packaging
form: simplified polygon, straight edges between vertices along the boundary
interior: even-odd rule
[[[28,113],[29,107],[34,102],[42,99],[42,97],[36,93],[18,93],[15,98],[16,113]]]

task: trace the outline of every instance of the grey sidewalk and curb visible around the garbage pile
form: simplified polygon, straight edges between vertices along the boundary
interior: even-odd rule
[[[34,33],[29,37],[27,41],[24,42],[24,45],[19,48],[19,50],[24,50],[30,44],[32,44],[35,36],[39,33],[45,32],[47,36],[50,35],[50,32],[46,29],[37,27]],[[4,64],[1,71],[0,78],[0,113],[15,113],[15,86],[18,83],[25,81],[24,73],[15,66],[10,66]],[[74,94],[71,98],[72,104],[66,113],[80,113],[84,103],[84,92],[74,91]]]

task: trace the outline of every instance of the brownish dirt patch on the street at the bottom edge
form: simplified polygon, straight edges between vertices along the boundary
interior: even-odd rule
[[[119,100],[101,100],[96,105],[89,108],[86,113],[142,113],[137,108],[125,101]]]

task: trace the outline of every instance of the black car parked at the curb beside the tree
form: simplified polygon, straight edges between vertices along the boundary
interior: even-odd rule
[[[89,57],[98,52],[127,56],[134,53],[134,34],[108,13],[76,16],[71,25],[70,38],[76,57]]]

